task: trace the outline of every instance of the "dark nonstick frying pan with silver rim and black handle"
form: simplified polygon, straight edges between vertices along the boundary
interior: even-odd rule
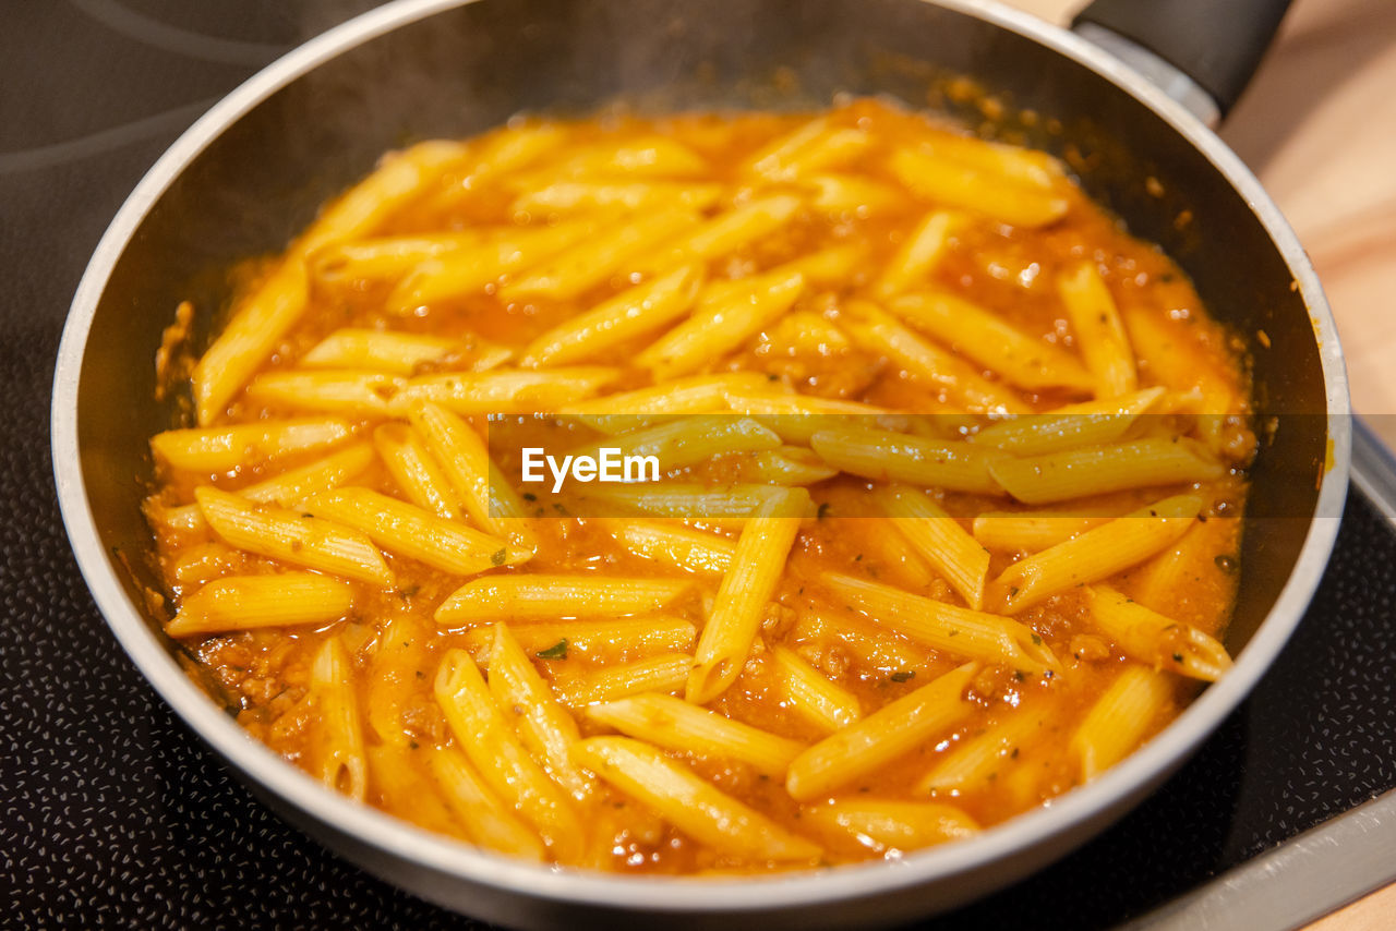
[[[1114,54],[979,0],[402,0],[311,40],[165,154],[74,297],[54,380],[53,458],[99,609],[163,698],[283,817],[367,870],[482,918],[885,924],[1023,877],[1156,787],[1245,697],[1298,623],[1337,533],[1351,423],[1332,314],[1275,204],[1205,126],[1240,92],[1284,6],[1100,0],[1081,28]],[[952,78],[977,91],[963,94],[970,85]],[[617,99],[641,110],[790,109],[828,105],[836,92],[930,103],[1067,158],[1085,190],[1160,243],[1213,314],[1248,339],[1259,415],[1277,426],[1251,473],[1228,634],[1234,669],[1099,780],[981,836],[899,863],[745,881],[637,881],[515,863],[341,798],[242,731],[186,674],[144,595],[159,590],[140,512],[152,472],[145,438],[174,413],[154,401],[151,362],[174,306],[223,306],[230,264],[279,251],[318,204],[406,141]]]

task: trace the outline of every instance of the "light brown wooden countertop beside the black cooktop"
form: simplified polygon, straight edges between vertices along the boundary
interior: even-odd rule
[[[1085,6],[1008,3],[1061,25]],[[1396,3],[1295,0],[1222,138],[1312,257],[1337,318],[1353,406],[1396,448]],[[1309,931],[1390,927],[1396,884]]]

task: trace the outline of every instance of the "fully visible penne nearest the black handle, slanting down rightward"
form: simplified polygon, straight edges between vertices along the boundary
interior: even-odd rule
[[[1071,202],[1037,184],[1018,184],[998,170],[933,152],[900,148],[888,167],[913,194],[941,207],[991,216],[1009,226],[1047,226],[1067,215]]]

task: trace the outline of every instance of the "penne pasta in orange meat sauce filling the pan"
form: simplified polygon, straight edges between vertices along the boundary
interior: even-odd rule
[[[297,766],[510,856],[898,857],[1230,664],[1240,346],[1054,159],[885,102],[392,154],[191,387],[169,634]],[[524,482],[607,444],[663,475]]]

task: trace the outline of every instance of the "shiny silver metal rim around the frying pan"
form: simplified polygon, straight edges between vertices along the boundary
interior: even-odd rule
[[[1256,177],[1181,105],[1107,52],[995,0],[919,0],[983,20],[1034,40],[1115,84],[1201,151],[1241,194],[1294,275],[1308,307],[1325,380],[1332,468],[1319,490],[1316,515],[1275,606],[1233,670],[1142,750],[1096,782],[1025,812],[969,840],[909,854],[898,863],[870,861],[835,870],[741,879],[631,878],[530,865],[431,835],[359,805],[283,761],[228,717],[170,657],[127,597],[94,519],[78,445],[78,375],[88,334],[107,279],[131,237],[173,180],[223,131],[286,84],[320,64],[392,29],[479,0],[395,0],[286,53],[200,117],[155,162],[102,236],[73,297],[54,368],[52,451],[63,522],[98,610],[141,674],[179,717],[261,790],[359,843],[448,877],[557,904],[592,904],[651,913],[734,913],[808,909],[946,882],[994,861],[1036,850],[1092,826],[1152,789],[1222,723],[1270,667],[1304,614],[1337,536],[1349,487],[1350,402],[1332,310],[1294,232]]]

